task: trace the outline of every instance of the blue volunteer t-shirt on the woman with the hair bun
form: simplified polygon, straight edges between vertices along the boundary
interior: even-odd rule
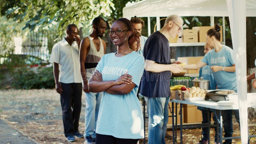
[[[219,52],[215,52],[215,49],[206,53],[204,58],[201,60],[207,65],[211,66],[221,66],[221,67],[230,67],[235,64],[234,52],[233,50],[223,45]],[[227,71],[217,71],[212,72],[218,89],[228,89],[237,91],[236,87],[236,72],[227,72]]]

